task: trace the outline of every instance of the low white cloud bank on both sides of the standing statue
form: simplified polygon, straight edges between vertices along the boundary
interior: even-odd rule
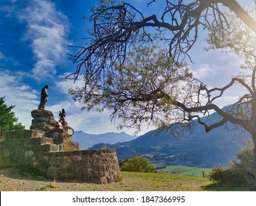
[[[31,111],[37,110],[40,102],[40,93],[22,82],[22,77],[24,76],[19,75],[20,72],[14,73],[1,70],[0,73],[0,96],[6,96],[5,103],[8,106],[15,105],[13,111],[18,117],[18,122],[25,125],[26,129],[29,129],[32,121]],[[73,82],[56,82],[56,85],[59,90],[62,90],[61,93],[64,94],[66,88],[73,85]],[[56,85],[53,85],[53,87],[56,87]],[[50,98],[51,96],[49,96]],[[80,104],[74,102],[67,92],[66,96],[63,95],[62,100],[57,104],[46,104],[46,110],[52,111],[56,121],[58,121],[58,114],[62,108],[66,110],[66,121],[69,126],[76,131],[83,130],[91,134],[120,132],[116,129],[117,125],[111,123],[108,111],[103,113],[97,113],[93,110],[89,113],[82,111],[80,110]],[[134,132],[132,129],[124,129],[123,131],[130,134]]]

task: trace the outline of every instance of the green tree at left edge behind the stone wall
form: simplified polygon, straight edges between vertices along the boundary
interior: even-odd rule
[[[0,97],[0,129],[24,130],[25,127],[21,123],[17,123],[18,118],[15,117],[15,113],[12,111],[15,106],[8,107],[7,104],[4,104],[4,98]]]

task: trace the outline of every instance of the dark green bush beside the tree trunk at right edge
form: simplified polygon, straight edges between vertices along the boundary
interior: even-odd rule
[[[249,142],[247,148],[237,152],[238,161],[232,160],[229,168],[212,168],[210,180],[226,187],[246,186],[245,166],[253,160],[253,143]]]

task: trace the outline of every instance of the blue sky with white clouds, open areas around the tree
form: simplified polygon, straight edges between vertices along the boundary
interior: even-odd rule
[[[161,0],[159,0],[161,1]],[[99,134],[121,132],[111,124],[108,111],[103,113],[80,110],[73,102],[67,89],[83,84],[78,80],[65,80],[67,74],[75,71],[75,65],[67,54],[74,54],[72,45],[83,45],[82,38],[90,25],[83,20],[89,17],[90,8],[98,1],[92,0],[3,0],[0,3],[0,96],[5,102],[15,105],[18,121],[29,129],[30,112],[37,109],[41,88],[49,85],[49,102],[46,110],[52,110],[55,118],[65,108],[66,121],[75,130]],[[157,11],[156,5],[145,7],[148,1],[132,0],[131,4],[142,7],[146,13]],[[163,1],[161,1],[163,2]],[[239,1],[243,6],[253,1]],[[238,74],[242,61],[235,55],[220,51],[204,52],[203,36],[191,52],[194,64],[190,65],[195,77],[207,86],[221,86]],[[221,106],[234,102],[239,93],[231,90]],[[242,91],[241,91],[242,92]],[[153,129],[153,128],[148,128]],[[143,134],[148,131],[143,127]],[[123,131],[133,134],[132,129]]]

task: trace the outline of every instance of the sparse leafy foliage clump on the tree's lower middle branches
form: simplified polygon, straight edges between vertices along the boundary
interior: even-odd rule
[[[173,102],[191,106],[196,90],[187,66],[173,66],[166,54],[166,49],[156,45],[136,48],[125,64],[115,64],[114,71],[102,75],[98,85],[91,82],[88,88],[70,89],[69,93],[85,110],[113,111],[112,119],[122,119],[120,129],[139,130],[143,122],[163,128],[173,118],[179,121],[184,116]]]

